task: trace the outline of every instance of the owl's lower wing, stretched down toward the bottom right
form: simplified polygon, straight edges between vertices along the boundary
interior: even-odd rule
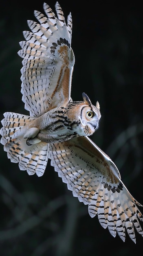
[[[89,215],[98,216],[103,228],[125,241],[125,229],[136,243],[134,227],[143,236],[139,220],[141,206],[121,181],[120,173],[96,144],[88,137],[78,137],[50,145],[51,165],[67,183],[73,196],[88,204]]]

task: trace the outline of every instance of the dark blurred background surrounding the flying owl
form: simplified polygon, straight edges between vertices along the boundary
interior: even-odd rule
[[[48,0],[55,11],[55,1]],[[93,4],[94,3],[94,4]],[[116,4],[114,4],[116,3]],[[129,3],[129,2],[128,2]],[[99,130],[92,140],[118,166],[132,195],[143,204],[143,9],[138,1],[64,1],[65,17],[73,16],[75,53],[72,98],[86,92],[101,106]],[[0,3],[0,119],[6,111],[25,113],[20,93],[22,59],[17,52],[26,20],[43,1]],[[44,175],[30,177],[7,159],[0,145],[0,255],[110,256],[142,251],[104,230],[97,216],[73,198],[48,162]],[[143,209],[141,209],[143,213]],[[143,223],[141,223],[143,227]]]

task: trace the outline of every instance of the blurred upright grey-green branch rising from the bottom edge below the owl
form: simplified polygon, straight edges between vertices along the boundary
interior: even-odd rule
[[[55,256],[72,256],[72,247],[73,239],[75,237],[75,229],[77,219],[79,218],[78,214],[78,204],[79,201],[77,198],[73,198],[70,195],[69,191],[66,193],[66,218],[64,218],[63,226],[59,232],[55,233],[53,237],[44,240],[43,243],[40,243],[31,254],[31,256],[41,256],[46,250],[54,248]]]

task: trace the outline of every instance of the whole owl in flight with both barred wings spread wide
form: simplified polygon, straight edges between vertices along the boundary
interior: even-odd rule
[[[88,204],[88,213],[98,216],[101,226],[125,241],[125,233],[136,243],[136,229],[143,216],[137,202],[121,181],[110,157],[88,136],[99,126],[98,101],[92,105],[83,92],[83,101],[70,97],[75,58],[71,48],[72,16],[67,24],[58,2],[55,16],[44,3],[43,15],[35,11],[38,23],[28,20],[18,54],[23,58],[21,93],[29,115],[4,113],[1,144],[7,157],[19,163],[29,175],[44,174],[48,159],[58,176],[79,202]]]

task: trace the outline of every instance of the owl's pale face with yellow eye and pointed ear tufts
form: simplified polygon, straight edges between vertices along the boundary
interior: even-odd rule
[[[81,110],[81,123],[84,126],[86,135],[92,135],[99,127],[99,120],[101,118],[99,102],[96,106],[92,105],[89,97],[85,92],[82,93],[84,100],[84,107]]]

